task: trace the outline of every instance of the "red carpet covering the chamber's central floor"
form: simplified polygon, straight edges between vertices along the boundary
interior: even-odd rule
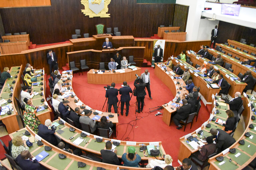
[[[173,165],[178,166],[177,156],[179,150],[179,138],[184,136],[187,133],[190,133],[200,127],[209,117],[209,111],[207,107],[201,102],[202,107],[200,109],[198,121],[195,122],[192,126],[192,129],[189,129],[190,124],[187,126],[185,132],[183,132],[183,128],[180,130],[176,129],[176,126],[173,122],[171,122],[170,126],[167,126],[162,121],[162,117],[155,116],[157,111],[149,113],[149,108],[161,106],[164,103],[169,102],[173,99],[170,89],[164,85],[154,74],[154,69],[151,68],[142,68],[142,72],[145,69],[149,70],[150,73],[150,81],[151,81],[151,95],[153,99],[151,100],[148,95],[145,96],[145,106],[143,112],[138,114],[137,120],[135,116],[135,101],[136,98],[132,96],[130,101],[130,110],[129,115],[119,116],[119,124],[117,125],[117,139],[119,140],[129,140],[129,141],[138,141],[138,142],[153,142],[153,141],[162,141],[162,145],[166,154],[169,154],[173,158]],[[135,80],[135,75],[134,75]],[[48,83],[47,91],[49,91]],[[131,88],[134,88],[133,82],[128,82]],[[86,104],[88,104],[91,108],[102,110],[102,107],[105,102],[105,89],[106,85],[95,85],[87,83],[87,74],[84,72],[84,75],[80,76],[76,73],[72,82],[74,91],[77,96]],[[120,88],[121,84],[116,84],[116,88]],[[48,96],[47,92],[47,96]],[[147,93],[147,91],[146,91]],[[118,99],[120,99],[120,95],[118,95]],[[106,105],[104,106],[102,111],[106,111]],[[120,112],[120,106],[118,111]],[[112,111],[114,109],[112,107]],[[160,112],[162,112],[161,110]]]

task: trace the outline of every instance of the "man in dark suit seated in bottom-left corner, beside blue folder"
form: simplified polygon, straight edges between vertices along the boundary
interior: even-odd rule
[[[47,168],[41,166],[35,157],[31,155],[28,150],[22,151],[15,159],[21,169],[32,169],[32,170],[46,170]]]

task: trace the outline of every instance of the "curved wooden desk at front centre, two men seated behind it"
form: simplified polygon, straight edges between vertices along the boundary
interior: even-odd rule
[[[110,72],[109,70],[106,70],[103,74],[95,74],[93,73],[93,70],[90,70],[87,72],[87,83],[90,84],[105,84],[110,85],[112,82],[115,83],[123,83],[124,81],[130,82],[134,81],[135,74],[140,75],[141,68],[136,67],[137,70],[131,70],[131,69],[125,69],[125,73],[120,72]],[[108,72],[107,72],[108,71]],[[95,70],[95,72],[98,72]],[[106,73],[107,72],[107,73]]]

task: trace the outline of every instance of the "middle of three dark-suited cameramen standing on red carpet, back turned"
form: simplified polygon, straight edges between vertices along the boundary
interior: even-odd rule
[[[132,89],[129,85],[127,85],[127,82],[123,82],[123,87],[119,89],[119,94],[121,94],[120,100],[121,100],[121,115],[124,113],[124,103],[126,105],[126,112],[125,115],[128,116],[129,113],[129,104],[130,104],[130,93],[132,93]]]

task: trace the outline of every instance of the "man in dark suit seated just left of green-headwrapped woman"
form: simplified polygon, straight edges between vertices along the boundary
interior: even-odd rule
[[[110,141],[106,142],[106,150],[101,150],[101,157],[103,163],[120,165],[120,161],[116,155],[117,149],[112,150],[112,143]]]

